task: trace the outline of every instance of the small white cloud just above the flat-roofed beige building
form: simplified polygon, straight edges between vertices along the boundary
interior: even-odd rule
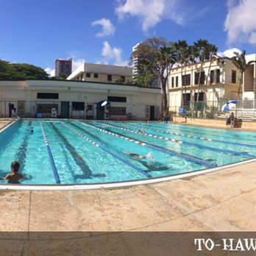
[[[105,41],[103,43],[103,48],[102,48],[102,56],[106,60],[113,60],[114,65],[128,65],[127,61],[122,60],[121,54],[122,54],[122,49],[116,48],[116,47],[111,47],[110,44]],[[106,63],[106,60],[104,63]]]

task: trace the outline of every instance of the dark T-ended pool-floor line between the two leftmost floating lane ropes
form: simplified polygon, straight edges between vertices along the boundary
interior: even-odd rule
[[[91,179],[92,177],[106,177],[105,174],[93,174],[90,170],[87,163],[85,163],[85,160],[80,156],[80,154],[77,152],[77,150],[74,148],[74,146],[71,145],[71,143],[68,142],[68,140],[60,133],[60,129],[58,129],[55,124],[50,123],[52,129],[54,129],[55,132],[57,132],[57,135],[60,137],[61,141],[65,144],[68,151],[71,153],[72,157],[74,158],[77,165],[81,168],[83,174],[75,174],[74,177],[76,179]]]

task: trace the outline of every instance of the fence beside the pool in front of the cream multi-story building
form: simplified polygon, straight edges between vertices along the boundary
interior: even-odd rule
[[[225,113],[221,111],[221,107],[227,103],[227,99],[206,102],[187,102],[183,108],[187,117],[191,118],[221,118],[225,117]],[[238,118],[256,119],[256,100],[255,99],[238,99],[237,105],[230,110],[234,112]],[[174,115],[182,115],[179,111],[180,106],[171,106],[170,111]]]

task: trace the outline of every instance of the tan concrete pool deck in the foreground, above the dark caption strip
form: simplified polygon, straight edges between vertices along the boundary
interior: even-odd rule
[[[0,230],[255,231],[255,170],[256,162],[128,188],[1,190]]]

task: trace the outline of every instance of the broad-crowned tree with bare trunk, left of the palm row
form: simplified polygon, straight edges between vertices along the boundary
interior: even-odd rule
[[[152,74],[157,74],[163,90],[163,114],[168,115],[168,76],[177,60],[173,43],[167,42],[164,38],[149,38],[132,53],[132,58],[134,57],[138,58],[138,67],[141,70],[143,67],[144,71],[148,70]],[[154,81],[155,77],[152,82]]]

